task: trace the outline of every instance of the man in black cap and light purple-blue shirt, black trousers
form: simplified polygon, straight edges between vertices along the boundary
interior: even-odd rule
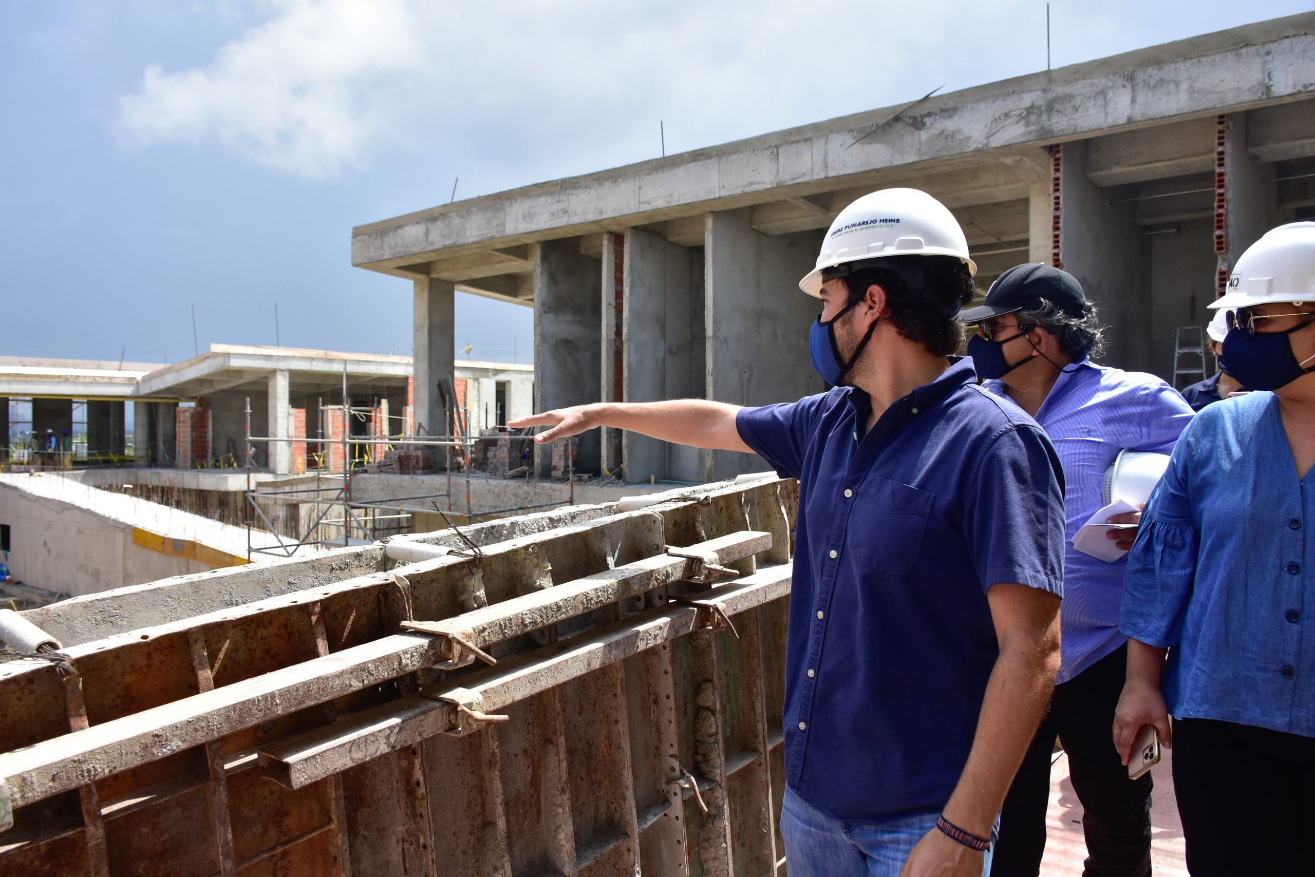
[[[1123,557],[1106,563],[1082,554],[1072,539],[1105,505],[1105,472],[1119,451],[1168,454],[1191,409],[1155,375],[1091,362],[1103,352],[1095,308],[1073,275],[1057,268],[1010,268],[981,306],[961,310],[959,318],[977,326],[968,352],[986,388],[1041,425],[1066,481],[1060,672],[1049,710],[1005,801],[992,874],[1032,877],[1040,870],[1056,736],[1084,807],[1085,877],[1149,874],[1151,774],[1128,780],[1110,740],[1127,663],[1119,632],[1127,564]],[[1124,531],[1122,539],[1131,536]],[[1118,547],[1127,550],[1131,540]]]

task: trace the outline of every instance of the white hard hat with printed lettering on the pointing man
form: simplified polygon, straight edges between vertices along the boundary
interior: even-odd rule
[[[818,264],[800,289],[822,296],[822,271],[847,262],[884,256],[955,256],[977,273],[968,239],[949,209],[919,189],[871,192],[840,210],[822,241]]]

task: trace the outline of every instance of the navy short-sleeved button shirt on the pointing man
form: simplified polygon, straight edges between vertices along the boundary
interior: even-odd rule
[[[998,653],[986,589],[1055,594],[1064,476],[1013,402],[952,358],[867,435],[867,393],[747,408],[740,438],[800,479],[785,778],[839,819],[944,806]]]

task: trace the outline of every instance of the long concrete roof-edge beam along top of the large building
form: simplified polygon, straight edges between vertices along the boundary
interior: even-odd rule
[[[359,226],[352,264],[393,271],[422,254],[615,231],[869,184],[897,167],[1308,99],[1312,55],[1315,13],[1264,21],[938,95],[885,125],[907,105]]]

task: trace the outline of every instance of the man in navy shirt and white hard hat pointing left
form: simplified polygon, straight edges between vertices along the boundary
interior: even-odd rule
[[[800,479],[790,877],[988,873],[1049,699],[1063,473],[1041,429],[951,355],[974,271],[944,205],[873,192],[840,212],[800,281],[821,300],[809,350],[830,392],[761,408],[604,402],[513,423],[550,426],[539,442],[610,426],[752,451]]]

